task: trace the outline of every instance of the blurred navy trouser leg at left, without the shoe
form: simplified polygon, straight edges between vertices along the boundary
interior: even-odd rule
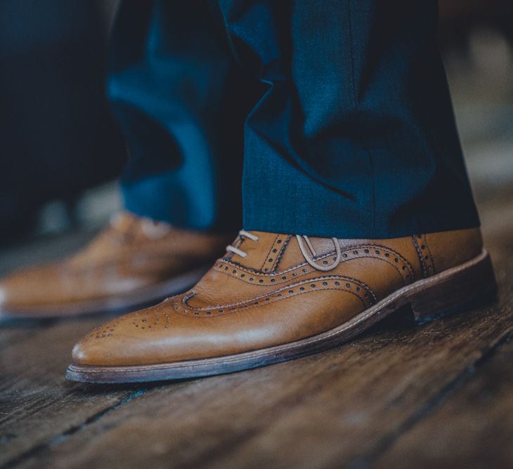
[[[216,1],[125,0],[111,59],[108,95],[130,154],[126,209],[190,229],[240,227],[252,91]]]

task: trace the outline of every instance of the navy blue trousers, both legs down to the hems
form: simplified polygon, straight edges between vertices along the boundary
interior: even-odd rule
[[[324,237],[479,225],[437,7],[124,0],[108,95],[129,145],[126,208]]]

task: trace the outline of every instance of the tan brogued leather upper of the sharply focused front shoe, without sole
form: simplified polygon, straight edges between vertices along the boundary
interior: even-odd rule
[[[75,345],[76,364],[141,365],[232,355],[332,329],[401,287],[478,256],[478,228],[397,239],[251,232],[190,291],[114,319]],[[330,267],[328,272],[315,265]]]

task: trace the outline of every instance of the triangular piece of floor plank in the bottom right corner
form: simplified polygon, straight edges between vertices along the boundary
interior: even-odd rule
[[[441,408],[405,432],[378,468],[511,468],[513,337]]]

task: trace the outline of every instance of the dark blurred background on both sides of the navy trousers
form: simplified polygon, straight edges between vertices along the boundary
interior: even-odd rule
[[[118,6],[0,1],[0,273],[30,261],[20,244],[72,249],[121,206],[103,86]],[[477,202],[513,219],[513,1],[440,0],[440,43]]]

